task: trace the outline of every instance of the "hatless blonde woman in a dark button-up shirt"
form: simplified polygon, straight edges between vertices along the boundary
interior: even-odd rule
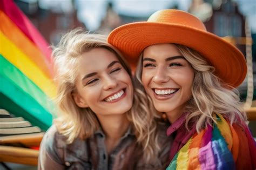
[[[129,66],[105,36],[72,30],[52,56],[60,116],[42,140],[39,169],[166,167],[167,126],[133,89]]]

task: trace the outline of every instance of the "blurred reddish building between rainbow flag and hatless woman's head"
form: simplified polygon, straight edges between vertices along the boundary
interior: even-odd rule
[[[60,37],[68,30],[84,27],[83,23],[77,19],[77,12],[71,1],[65,3],[64,8],[61,2],[59,4],[56,2],[58,1],[55,3],[49,1],[51,5],[42,8],[37,0],[15,1],[50,44],[57,44]]]

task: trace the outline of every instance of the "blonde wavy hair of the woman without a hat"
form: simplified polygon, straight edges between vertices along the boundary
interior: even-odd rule
[[[130,75],[130,67],[122,54],[106,42],[106,36],[90,34],[82,29],[75,29],[66,33],[58,46],[53,46],[52,57],[57,83],[57,112],[59,118],[55,124],[59,133],[65,135],[67,142],[71,143],[76,138],[90,138],[100,127],[98,119],[90,108],[80,108],[73,100],[72,93],[76,90],[77,65],[79,58],[86,51],[93,48],[104,48],[113,52]],[[137,137],[137,142],[144,148],[146,160],[154,159],[160,147],[157,141],[156,121],[148,107],[147,98],[141,90],[134,87],[133,105],[126,113],[127,119]]]

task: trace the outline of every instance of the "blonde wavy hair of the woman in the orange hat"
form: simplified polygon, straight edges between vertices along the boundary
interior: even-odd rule
[[[214,113],[222,114],[231,124],[246,121],[239,92],[215,76],[214,67],[209,65],[197,51],[184,45],[174,45],[194,69],[192,97],[185,106],[185,111],[190,112],[186,119],[187,129],[189,130],[188,123],[193,121],[196,123],[197,132],[200,132],[207,124],[211,125],[213,121],[215,122]],[[136,81],[140,84],[142,84],[142,59],[143,53],[140,55],[136,70]]]

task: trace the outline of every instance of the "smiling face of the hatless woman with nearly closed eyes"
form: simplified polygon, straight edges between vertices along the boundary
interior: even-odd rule
[[[96,115],[122,114],[132,106],[131,78],[114,53],[104,48],[83,53],[76,89],[76,104],[90,107]]]

